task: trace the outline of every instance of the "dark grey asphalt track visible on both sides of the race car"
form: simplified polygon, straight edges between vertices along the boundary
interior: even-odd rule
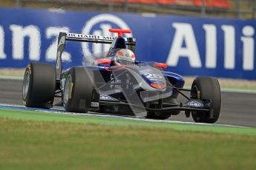
[[[22,105],[22,80],[0,79],[0,103]],[[222,106],[217,123],[256,127],[256,94],[222,92]],[[190,121],[183,112],[171,120]]]

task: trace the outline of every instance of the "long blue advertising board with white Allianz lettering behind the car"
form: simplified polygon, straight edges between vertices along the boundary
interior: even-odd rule
[[[109,28],[131,29],[137,60],[166,62],[166,71],[256,79],[255,21],[153,14],[1,8],[0,67],[54,64],[59,32],[113,35]],[[108,47],[68,42],[63,59],[81,65],[82,57]]]

